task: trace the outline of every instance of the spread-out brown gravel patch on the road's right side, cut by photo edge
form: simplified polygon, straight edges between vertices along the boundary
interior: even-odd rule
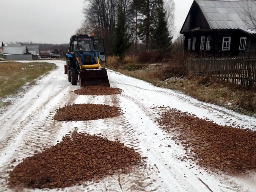
[[[215,172],[256,170],[255,131],[217,125],[174,109],[163,112],[159,123],[167,132],[177,134],[172,139],[192,152],[188,158],[201,167]]]

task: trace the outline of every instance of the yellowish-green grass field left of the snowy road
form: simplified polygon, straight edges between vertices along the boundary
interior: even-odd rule
[[[47,62],[0,62],[0,98],[16,95],[23,85],[35,84],[35,79],[54,67]]]

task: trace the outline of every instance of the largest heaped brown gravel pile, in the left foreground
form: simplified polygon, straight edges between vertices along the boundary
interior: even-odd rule
[[[64,188],[93,180],[115,170],[129,171],[140,163],[133,148],[86,133],[63,136],[55,146],[25,158],[9,173],[9,185],[29,188]]]

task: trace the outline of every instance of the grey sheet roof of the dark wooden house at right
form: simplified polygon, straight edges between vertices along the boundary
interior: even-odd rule
[[[210,29],[240,29],[247,30],[245,32],[251,34],[256,32],[256,23],[253,24],[252,19],[249,18],[250,15],[253,17],[255,15],[256,0],[194,0],[194,3],[203,12]]]

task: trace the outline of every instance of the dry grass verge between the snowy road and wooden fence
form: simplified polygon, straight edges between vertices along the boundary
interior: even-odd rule
[[[160,74],[164,74],[164,69],[162,72],[161,70],[156,72],[148,69],[111,69],[124,75],[147,81],[157,87],[181,91],[200,101],[223,106],[242,114],[256,116],[256,93],[241,86],[226,83],[225,81],[216,81],[211,78],[202,79],[190,74],[187,77],[170,77],[163,81],[163,75],[161,77]]]

